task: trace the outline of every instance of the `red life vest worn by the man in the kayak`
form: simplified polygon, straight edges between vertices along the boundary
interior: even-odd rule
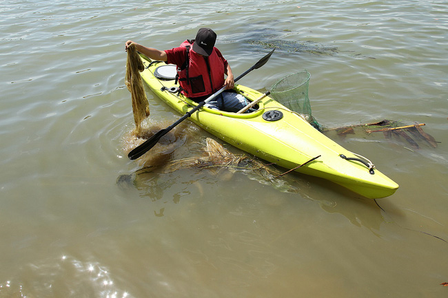
[[[186,61],[178,67],[177,74],[182,93],[188,98],[207,96],[224,85],[224,63],[213,50],[210,56],[200,56],[192,49],[194,41],[181,43],[185,47]]]

